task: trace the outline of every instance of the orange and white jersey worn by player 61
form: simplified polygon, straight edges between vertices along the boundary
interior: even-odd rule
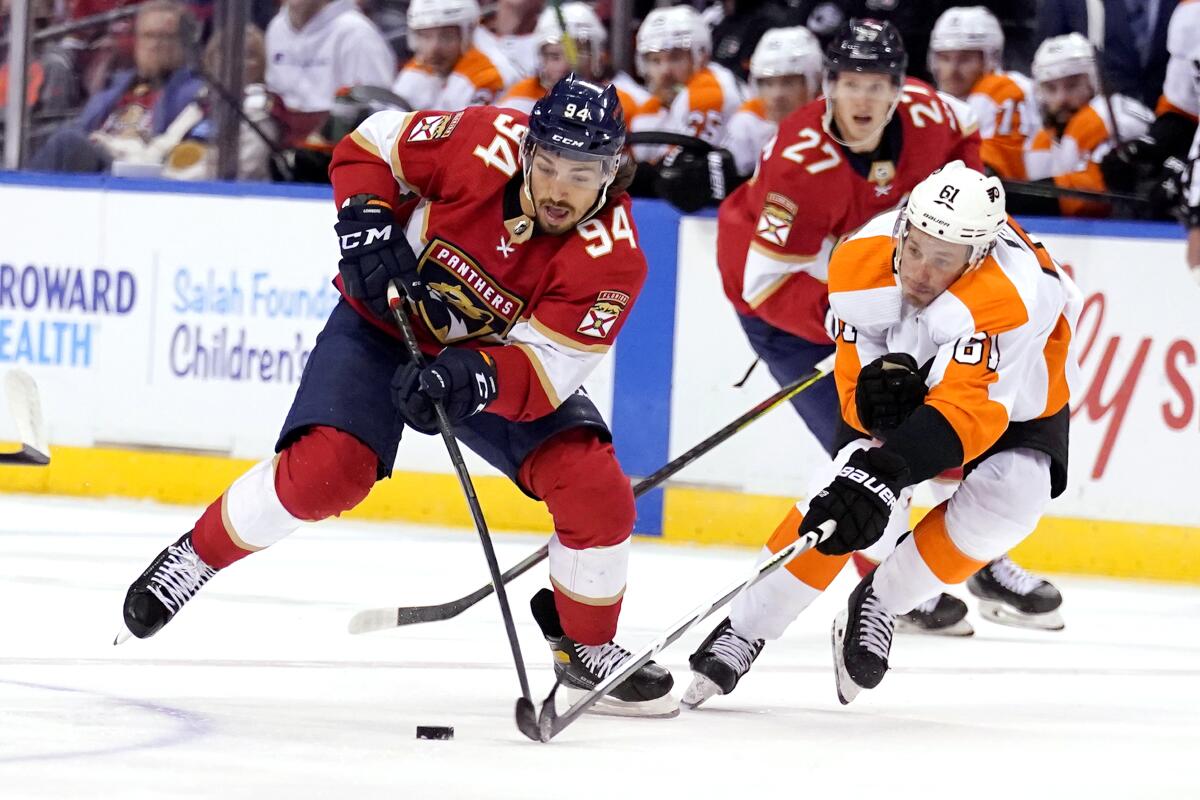
[[[829,263],[842,414],[864,429],[854,403],[863,365],[887,353],[931,362],[925,403],[950,423],[964,463],[1008,427],[1058,413],[1080,385],[1073,337],[1082,295],[1012,218],[984,261],[924,308],[902,297],[892,231],[900,211],[871,219]]]

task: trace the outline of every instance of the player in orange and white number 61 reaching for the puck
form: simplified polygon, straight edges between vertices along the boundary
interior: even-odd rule
[[[848,703],[888,668],[895,618],[1014,547],[1066,488],[1072,336],[1079,290],[1006,215],[996,178],[953,162],[904,209],[833,252],[835,375],[859,438],[814,481],[767,543],[779,552],[833,521],[834,534],[732,603],[692,654],[684,697],[733,691],[854,551],[906,530],[912,488],[965,479],[851,594],[834,622],[838,696]],[[912,403],[912,398],[920,402]]]

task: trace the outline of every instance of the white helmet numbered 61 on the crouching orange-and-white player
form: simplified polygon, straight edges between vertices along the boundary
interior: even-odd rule
[[[908,196],[896,219],[896,259],[908,230],[919,228],[935,239],[970,245],[967,269],[974,269],[991,252],[1007,221],[1000,179],[952,161],[917,184]]]

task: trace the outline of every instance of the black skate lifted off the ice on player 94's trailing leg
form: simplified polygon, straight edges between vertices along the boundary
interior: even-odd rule
[[[113,644],[120,644],[131,633],[139,639],[157,633],[214,575],[216,570],[196,554],[192,534],[184,534],[130,584],[125,595],[127,630],[118,633]]]

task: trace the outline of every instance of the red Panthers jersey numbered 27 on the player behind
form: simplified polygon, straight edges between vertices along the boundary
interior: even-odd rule
[[[947,162],[983,169],[976,126],[920,80],[905,82],[874,154],[834,142],[824,110],[818,98],[780,122],[755,176],[721,203],[716,229],[716,263],[737,312],[810,342],[829,338],[826,277],[839,239],[899,205]]]

